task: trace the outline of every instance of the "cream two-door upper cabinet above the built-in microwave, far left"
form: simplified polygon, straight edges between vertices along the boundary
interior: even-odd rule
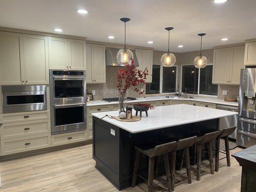
[[[0,32],[0,84],[49,84],[47,36]]]

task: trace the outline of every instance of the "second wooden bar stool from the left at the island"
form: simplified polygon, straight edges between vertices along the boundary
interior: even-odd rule
[[[190,168],[190,156],[189,147],[196,142],[196,136],[184,138],[177,142],[177,146],[171,151],[171,190],[174,191],[174,180],[175,180],[175,167],[176,167],[176,152],[183,149],[183,154],[186,160],[187,169],[187,180],[188,183],[192,183],[191,179],[191,168]]]

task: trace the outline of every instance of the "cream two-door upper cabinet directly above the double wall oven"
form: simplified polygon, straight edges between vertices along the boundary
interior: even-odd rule
[[[84,40],[49,36],[48,41],[50,69],[86,69],[86,44]]]

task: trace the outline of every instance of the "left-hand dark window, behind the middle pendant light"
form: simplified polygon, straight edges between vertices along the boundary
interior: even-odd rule
[[[146,84],[146,94],[173,93],[176,91],[177,67],[153,65],[152,83]]]

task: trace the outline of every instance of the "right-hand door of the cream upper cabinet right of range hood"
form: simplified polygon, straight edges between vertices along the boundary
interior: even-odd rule
[[[152,50],[143,50],[143,65],[142,71],[147,68],[148,76],[146,77],[146,83],[152,82],[152,66],[153,66],[153,51]]]

